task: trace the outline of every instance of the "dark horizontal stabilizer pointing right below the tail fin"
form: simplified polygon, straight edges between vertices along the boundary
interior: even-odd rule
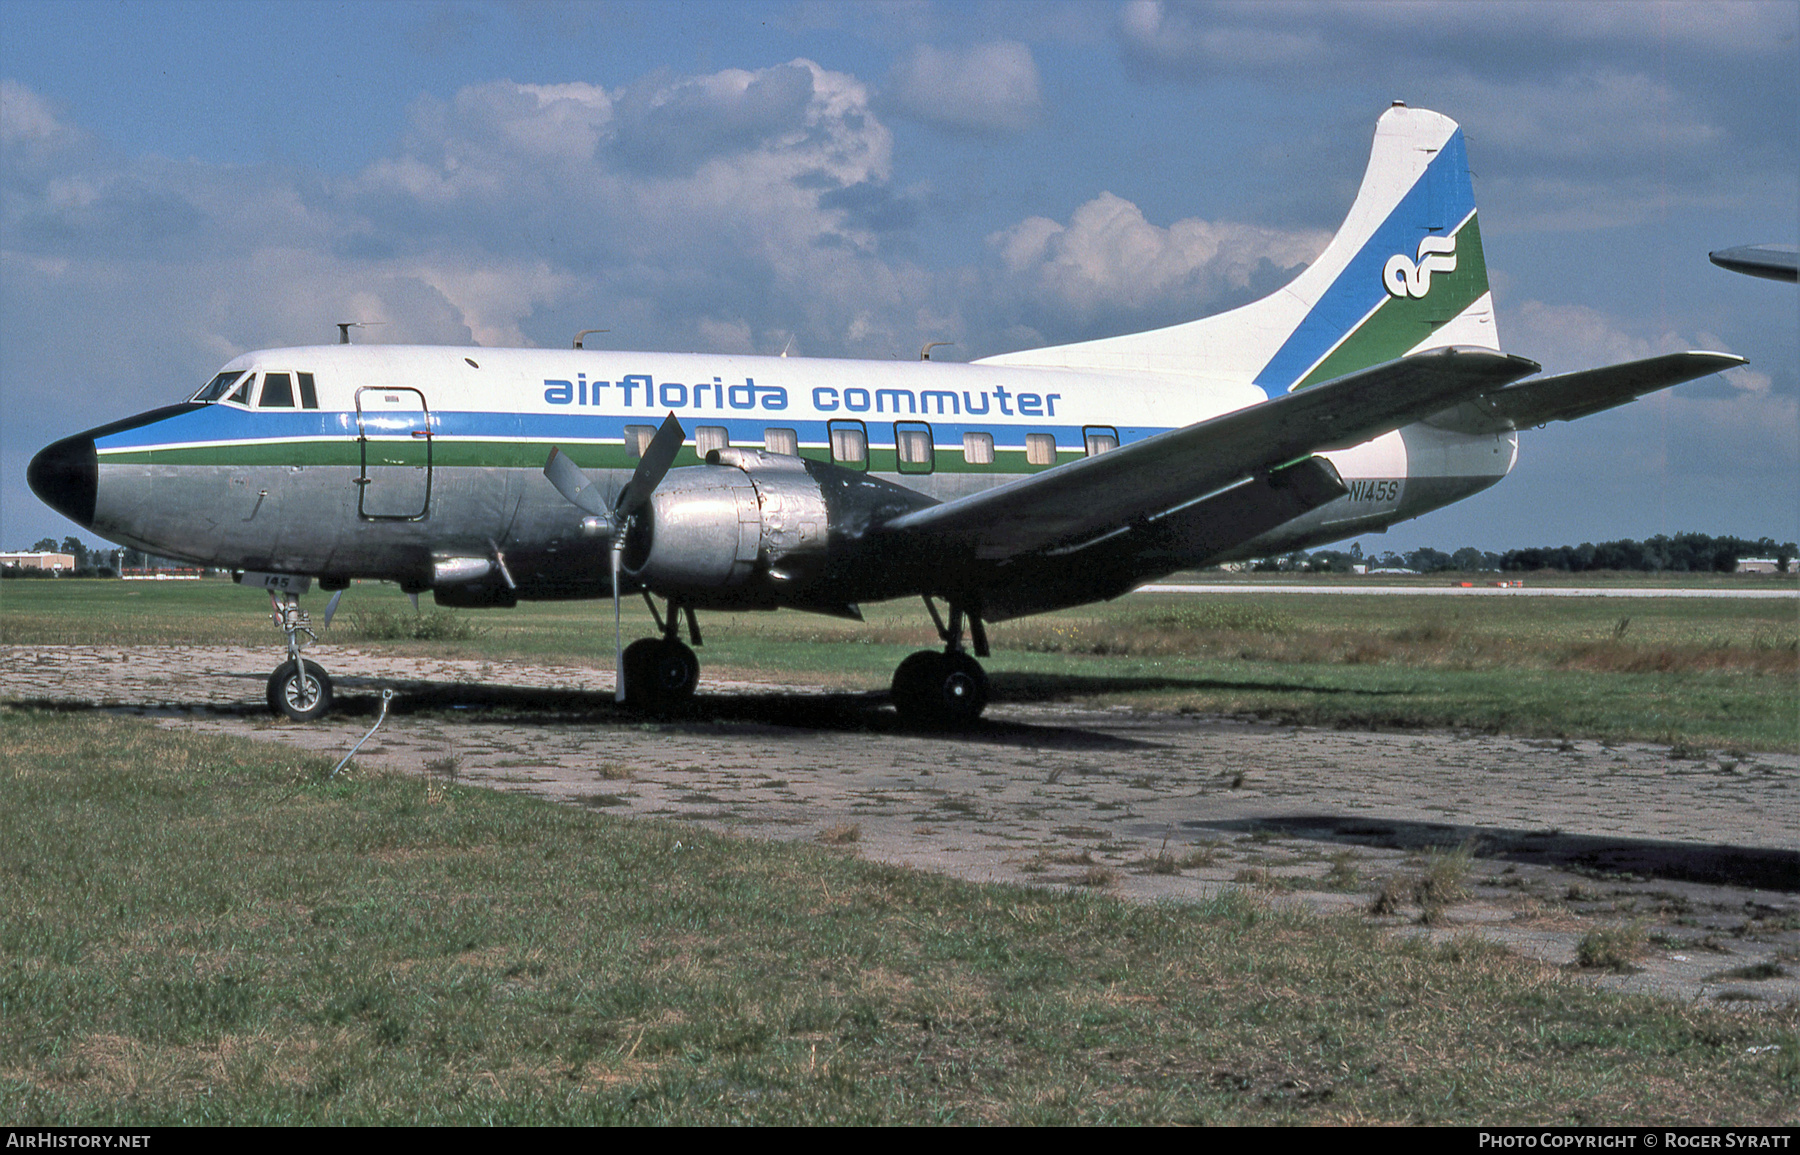
[[[1573,421],[1742,363],[1744,358],[1730,353],[1667,353],[1604,369],[1559,372],[1465,401],[1427,423],[1460,434],[1501,434],[1546,421]]]

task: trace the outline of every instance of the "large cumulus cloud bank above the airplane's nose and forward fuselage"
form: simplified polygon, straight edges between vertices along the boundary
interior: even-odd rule
[[[520,345],[565,340],[542,317],[567,311],[626,347],[797,336],[889,356],[916,344],[893,317],[934,295],[882,254],[918,203],[891,185],[869,90],[812,61],[470,85],[419,99],[396,148],[347,176],[104,153],[29,88],[0,95],[7,315],[184,300],[184,385],[338,320],[382,322],[360,340]]]

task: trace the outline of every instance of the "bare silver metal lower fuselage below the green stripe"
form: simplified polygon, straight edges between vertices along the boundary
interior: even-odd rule
[[[1465,435],[1411,425],[1373,443],[1327,453],[1348,493],[1280,527],[1219,551],[1165,547],[1143,560],[1138,581],[1175,569],[1310,549],[1478,493],[1512,468],[1516,434]],[[346,457],[355,453],[346,452]],[[698,462],[695,462],[698,464]],[[713,466],[722,468],[722,466]],[[590,471],[616,493],[623,470]],[[932,502],[1013,480],[1008,475],[875,475]],[[360,464],[99,464],[92,527],[126,545],[196,565],[304,574],[328,583],[387,579],[409,590],[459,585],[491,588],[499,569],[517,599],[610,595],[608,540],[583,533],[572,509],[540,470],[497,466],[414,466],[410,477],[367,480]],[[367,516],[371,486],[405,488],[400,509],[418,500],[418,516]],[[389,506],[394,507],[394,506]],[[841,540],[839,551],[878,549]],[[484,569],[481,561],[493,565]],[[1080,551],[1069,561],[1080,560]],[[457,569],[461,565],[461,569]],[[835,592],[842,603],[932,592],[931,576],[943,560],[878,558],[853,567],[853,586]],[[1080,570],[1080,565],[1075,565]],[[448,578],[448,579],[446,579]],[[1120,590],[1096,588],[1091,599]],[[511,597],[506,597],[511,601]],[[751,608],[785,604],[779,590],[751,583],[713,595],[693,592],[689,604]],[[803,597],[801,608],[815,597]],[[1082,601],[1076,594],[1057,599]],[[479,595],[463,604],[486,604]],[[500,601],[499,604],[504,604]]]

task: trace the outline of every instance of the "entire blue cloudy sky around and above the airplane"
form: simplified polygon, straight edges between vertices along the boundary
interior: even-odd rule
[[[1274,288],[1393,99],[1463,124],[1499,333],[1724,378],[1364,549],[1800,538],[1800,4],[0,5],[0,545],[25,462],[256,347],[954,358]],[[1057,236],[1055,246],[1008,245]],[[83,536],[90,536],[85,534]]]

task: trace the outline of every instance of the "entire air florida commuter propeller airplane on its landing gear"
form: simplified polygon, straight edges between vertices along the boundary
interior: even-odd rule
[[[616,622],[621,592],[662,597],[661,637],[616,637],[617,693],[652,709],[695,691],[697,610],[923,597],[943,649],[893,700],[956,723],[986,703],[985,622],[1384,529],[1498,482],[1521,428],[1741,363],[1534,378],[1499,351],[1462,130],[1395,104],[1318,261],[1202,320],[974,363],[266,349],[47,446],[29,480],[106,538],[268,588],[292,718],[331,703],[297,595],[365,578],[450,606],[610,595]]]

